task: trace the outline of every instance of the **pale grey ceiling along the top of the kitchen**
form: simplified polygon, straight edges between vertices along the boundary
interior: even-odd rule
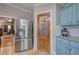
[[[33,11],[34,7],[46,4],[46,3],[8,3],[11,6],[18,7],[20,9],[28,10],[28,11]],[[59,3],[60,6],[64,6],[67,3]]]

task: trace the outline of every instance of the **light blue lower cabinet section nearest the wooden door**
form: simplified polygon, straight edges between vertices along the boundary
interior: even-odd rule
[[[57,38],[56,52],[57,55],[69,55],[69,41]]]

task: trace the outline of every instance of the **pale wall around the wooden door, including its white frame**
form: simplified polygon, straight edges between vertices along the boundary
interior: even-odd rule
[[[45,4],[34,9],[34,49],[37,49],[37,14],[51,10],[51,35],[50,35],[50,54],[55,54],[56,50],[56,4]]]

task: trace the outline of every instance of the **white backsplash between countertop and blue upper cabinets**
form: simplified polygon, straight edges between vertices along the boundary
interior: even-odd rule
[[[60,36],[61,35],[61,26],[56,26],[56,36]],[[70,36],[74,36],[74,37],[79,37],[79,28],[67,28],[68,31],[70,32]]]

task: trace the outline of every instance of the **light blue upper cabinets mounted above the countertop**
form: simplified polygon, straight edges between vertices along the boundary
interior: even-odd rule
[[[61,25],[79,24],[79,4],[70,4],[61,10]]]

